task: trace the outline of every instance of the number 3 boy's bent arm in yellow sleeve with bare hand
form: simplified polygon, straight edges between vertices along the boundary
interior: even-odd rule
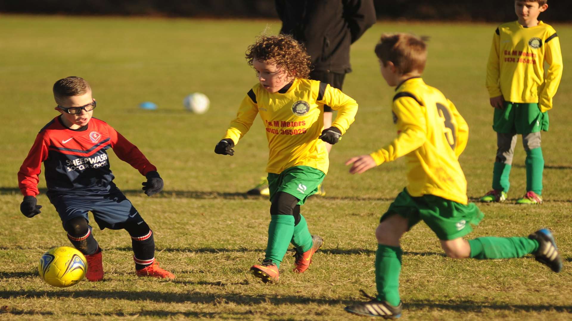
[[[391,162],[423,146],[427,139],[424,107],[419,105],[416,99],[403,96],[395,99],[393,113],[398,137],[370,155],[353,157],[345,162],[346,165],[352,164],[349,169],[351,174],[359,174],[382,163]]]

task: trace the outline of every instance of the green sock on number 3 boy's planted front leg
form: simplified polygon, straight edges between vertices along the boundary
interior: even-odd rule
[[[377,299],[399,306],[399,274],[401,272],[400,247],[378,244],[375,252],[375,284],[378,288]]]

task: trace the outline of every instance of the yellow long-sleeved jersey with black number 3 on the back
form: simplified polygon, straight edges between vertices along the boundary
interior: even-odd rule
[[[407,157],[407,191],[467,204],[467,180],[458,157],[467,146],[468,126],[455,105],[420,77],[396,88],[392,105],[398,137],[370,154],[379,165]]]

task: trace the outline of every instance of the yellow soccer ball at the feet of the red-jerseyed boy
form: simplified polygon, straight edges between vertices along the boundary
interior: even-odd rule
[[[54,287],[69,287],[80,282],[88,263],[80,251],[69,246],[50,248],[39,259],[39,276]]]

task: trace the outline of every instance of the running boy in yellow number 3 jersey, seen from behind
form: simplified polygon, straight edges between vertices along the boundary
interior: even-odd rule
[[[472,231],[471,224],[478,224],[484,216],[474,203],[467,204],[467,182],[458,162],[467,144],[467,123],[450,100],[423,82],[427,51],[421,39],[409,34],[382,35],[375,53],[383,78],[388,85],[396,86],[392,113],[398,137],[386,147],[351,158],[346,164],[352,164],[349,172],[356,174],[405,156],[408,185],[383,214],[375,231],[378,296],[368,296],[370,301],[345,310],[383,318],[401,316],[399,274],[403,251],[399,240],[420,220],[435,232],[451,258],[519,258],[534,253],[539,262],[559,272],[562,258],[546,228],[528,238],[463,239]]]

